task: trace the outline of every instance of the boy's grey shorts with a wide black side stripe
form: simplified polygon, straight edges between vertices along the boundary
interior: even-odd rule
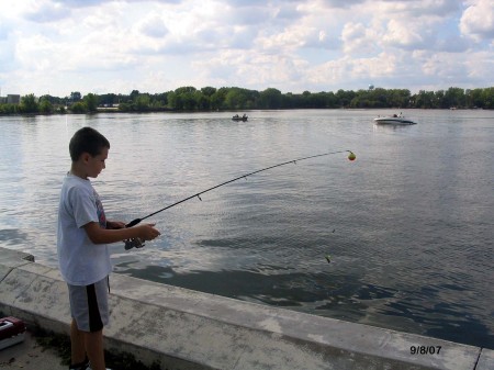
[[[109,278],[90,285],[70,285],[70,313],[81,332],[99,332],[109,323]]]

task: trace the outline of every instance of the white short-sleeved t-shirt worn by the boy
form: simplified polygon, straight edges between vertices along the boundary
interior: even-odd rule
[[[91,181],[67,173],[58,206],[57,249],[61,277],[71,285],[90,285],[112,271],[105,244],[93,244],[85,226],[98,222],[106,227],[100,197]]]

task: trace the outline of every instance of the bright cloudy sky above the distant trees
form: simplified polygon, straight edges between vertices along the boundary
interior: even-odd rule
[[[0,94],[494,86],[492,0],[0,0]]]

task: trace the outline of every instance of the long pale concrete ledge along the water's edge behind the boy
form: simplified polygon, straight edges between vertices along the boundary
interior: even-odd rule
[[[0,248],[0,310],[67,334],[58,270]],[[492,369],[493,351],[252,304],[125,276],[111,277],[106,348],[169,369]],[[412,346],[438,348],[412,355]],[[478,363],[479,362],[479,363]]]

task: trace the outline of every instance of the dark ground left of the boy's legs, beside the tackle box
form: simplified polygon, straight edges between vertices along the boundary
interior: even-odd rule
[[[0,350],[0,369],[4,370],[66,370],[54,348],[41,346],[33,333],[26,332],[24,341]]]

